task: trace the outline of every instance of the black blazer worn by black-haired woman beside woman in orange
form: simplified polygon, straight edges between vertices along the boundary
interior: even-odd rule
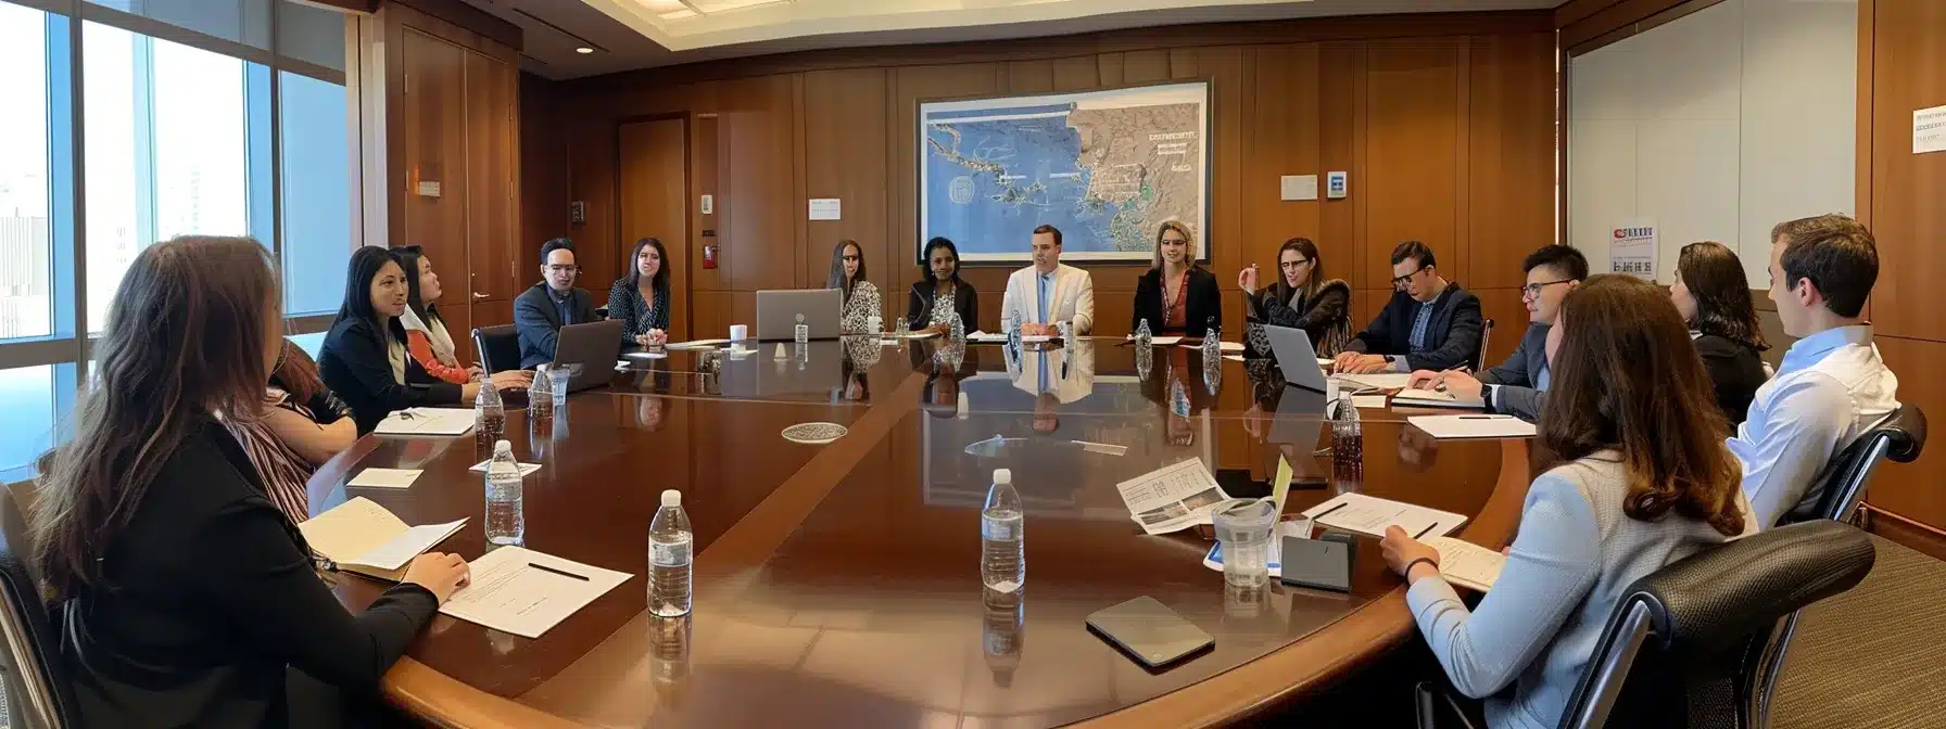
[[[405,342],[405,329],[393,321],[391,336]],[[325,334],[325,346],[317,350],[317,377],[325,381],[358,418],[358,435],[370,434],[387,414],[426,404],[459,404],[461,387],[438,381],[418,367],[411,356],[405,358],[407,381],[391,375],[391,360],[385,358],[385,342],[372,323],[358,317],[339,317]]]

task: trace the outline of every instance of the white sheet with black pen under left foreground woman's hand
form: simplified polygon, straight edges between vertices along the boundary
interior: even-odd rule
[[[629,577],[632,575],[627,572],[601,570],[522,546],[502,546],[473,560],[473,581],[440,605],[440,612],[514,636],[541,638]]]

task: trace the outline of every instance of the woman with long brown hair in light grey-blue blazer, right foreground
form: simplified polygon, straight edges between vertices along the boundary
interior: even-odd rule
[[[1426,643],[1456,688],[1487,698],[1491,727],[1553,727],[1629,583],[1757,529],[1709,375],[1654,284],[1590,278],[1563,301],[1547,358],[1537,445],[1551,463],[1479,607],[1440,577],[1434,548],[1397,527],[1384,540]]]

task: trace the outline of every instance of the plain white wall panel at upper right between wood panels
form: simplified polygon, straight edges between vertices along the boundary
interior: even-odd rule
[[[1856,0],[1724,0],[1572,58],[1568,243],[1605,272],[1648,220],[1658,282],[1709,239],[1769,286],[1771,226],[1853,212],[1856,84]]]

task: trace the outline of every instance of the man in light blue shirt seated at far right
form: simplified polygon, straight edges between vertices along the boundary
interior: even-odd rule
[[[1728,441],[1763,529],[1816,505],[1825,465],[1899,408],[1899,379],[1862,319],[1874,282],[1878,245],[1856,220],[1818,216],[1771,229],[1771,301],[1798,342]]]

